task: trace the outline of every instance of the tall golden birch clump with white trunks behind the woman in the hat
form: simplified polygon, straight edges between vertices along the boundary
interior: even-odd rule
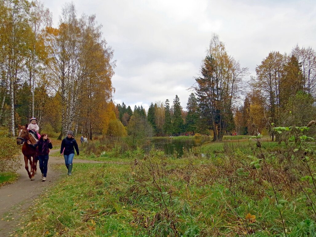
[[[63,105],[59,138],[81,124],[92,139],[94,130],[102,130],[102,104],[112,98],[112,49],[102,39],[95,16],[78,19],[73,4],[65,5],[58,29],[47,28],[46,42],[52,58],[52,83]],[[85,119],[78,121],[79,115],[86,115]]]

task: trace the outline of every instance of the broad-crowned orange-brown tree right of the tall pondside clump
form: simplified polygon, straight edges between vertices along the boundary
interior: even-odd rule
[[[301,63],[294,54],[287,56],[270,52],[256,68],[257,77],[252,80],[258,96],[264,101],[265,117],[275,126],[287,123],[286,105],[299,91],[306,91]],[[274,131],[270,129],[272,141]],[[276,134],[277,135],[277,134]]]

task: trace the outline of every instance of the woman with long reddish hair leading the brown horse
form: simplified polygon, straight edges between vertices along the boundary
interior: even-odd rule
[[[32,145],[30,141],[27,141],[27,144],[29,144],[33,148],[36,148],[38,146],[37,154],[40,163],[40,171],[42,173],[42,181],[46,181],[49,149],[53,148],[51,140],[49,140],[46,133],[43,133],[37,143]]]

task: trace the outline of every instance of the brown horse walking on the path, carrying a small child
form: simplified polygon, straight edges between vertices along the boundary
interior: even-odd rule
[[[28,177],[31,180],[35,180],[34,174],[36,174],[37,170],[37,154],[36,149],[27,144],[27,141],[30,141],[31,144],[35,144],[35,138],[28,132],[27,125],[20,126],[19,125],[19,135],[16,138],[16,144],[22,145],[22,153],[24,155],[25,169],[27,171]],[[32,159],[32,158],[33,159]],[[31,172],[28,169],[28,161],[30,161]],[[32,174],[31,174],[32,173]]]

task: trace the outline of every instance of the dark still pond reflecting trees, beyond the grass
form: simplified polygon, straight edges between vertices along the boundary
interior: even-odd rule
[[[212,139],[212,137],[210,137]],[[152,147],[155,149],[163,150],[166,155],[173,155],[175,151],[179,156],[183,155],[184,150],[191,149],[193,147],[201,146],[203,143],[210,141],[208,138],[154,138],[143,146],[143,149],[148,153]]]

